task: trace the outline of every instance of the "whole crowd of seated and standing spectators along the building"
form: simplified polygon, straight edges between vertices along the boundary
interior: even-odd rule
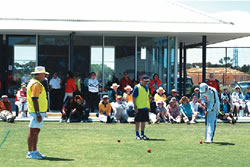
[[[99,81],[95,72],[91,72],[85,78],[81,78],[78,73],[75,73],[74,76],[72,72],[68,72],[65,80],[61,80],[57,73],[54,73],[50,80],[46,79],[42,83],[50,101],[50,110],[60,110],[62,113],[60,122],[86,122],[89,113],[97,113],[100,121],[105,123],[111,123],[114,120],[124,123],[133,122],[135,117],[133,88],[135,85],[127,72],[124,72],[123,77],[118,81],[119,83],[112,83],[109,93],[103,95],[101,100]],[[209,75],[207,84],[216,88],[220,94],[219,119],[235,123],[238,116],[250,116],[250,87],[248,87],[246,95],[243,94],[239,86],[235,87],[232,94],[226,87],[221,92],[219,81],[215,79],[213,73]],[[193,124],[197,122],[197,119],[205,117],[207,106],[200,98],[198,87],[194,88],[190,98],[181,97],[176,89],[172,89],[170,94],[167,94],[158,74],[153,75],[148,87],[150,89],[149,119],[151,123],[183,122]],[[64,91],[62,92],[62,90]],[[8,111],[8,115],[12,115],[7,101],[6,96],[0,101],[2,115],[6,111]],[[22,84],[21,89],[18,90],[15,104],[17,106],[16,115],[19,117],[27,116],[25,84]],[[15,118],[11,118],[14,121]]]

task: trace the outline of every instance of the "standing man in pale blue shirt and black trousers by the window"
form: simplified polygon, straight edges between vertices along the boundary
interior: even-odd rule
[[[60,110],[60,89],[61,79],[57,76],[57,73],[53,74],[53,78],[49,81],[50,86],[50,109]]]

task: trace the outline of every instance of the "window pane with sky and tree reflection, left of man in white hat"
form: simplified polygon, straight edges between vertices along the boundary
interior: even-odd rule
[[[36,66],[36,37],[8,36],[8,94],[15,96],[21,83],[28,83]]]

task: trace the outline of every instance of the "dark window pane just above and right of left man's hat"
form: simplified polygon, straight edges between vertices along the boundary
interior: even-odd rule
[[[45,66],[53,74],[65,77],[69,62],[68,36],[39,36],[38,65]]]

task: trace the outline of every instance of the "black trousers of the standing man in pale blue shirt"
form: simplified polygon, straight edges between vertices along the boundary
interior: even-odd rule
[[[50,91],[50,109],[61,110],[61,90],[51,89]]]

